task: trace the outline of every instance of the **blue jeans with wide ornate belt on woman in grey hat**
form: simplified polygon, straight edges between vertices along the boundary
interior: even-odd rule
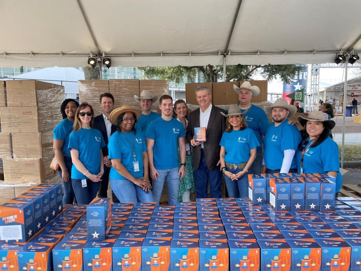
[[[231,169],[226,167],[226,170],[232,174],[236,174],[243,171],[244,168]],[[252,169],[244,174],[238,180],[231,180],[230,177],[225,175],[226,187],[228,191],[228,197],[230,198],[248,198],[248,174],[252,174]]]

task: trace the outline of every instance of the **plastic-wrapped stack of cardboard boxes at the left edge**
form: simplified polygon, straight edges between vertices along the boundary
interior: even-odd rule
[[[55,174],[49,168],[52,130],[62,119],[64,97],[64,87],[36,80],[6,81],[6,96],[0,87],[0,170],[5,184],[40,184]]]

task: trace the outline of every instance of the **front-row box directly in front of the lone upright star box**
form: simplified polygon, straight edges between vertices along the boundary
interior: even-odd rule
[[[83,271],[112,271],[113,242],[88,241],[83,246]]]

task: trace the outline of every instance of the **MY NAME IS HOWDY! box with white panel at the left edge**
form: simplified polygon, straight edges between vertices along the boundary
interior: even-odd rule
[[[27,242],[35,234],[32,203],[0,206],[0,241]]]

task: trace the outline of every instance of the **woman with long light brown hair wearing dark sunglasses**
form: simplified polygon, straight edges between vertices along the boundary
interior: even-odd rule
[[[73,167],[71,182],[78,204],[89,204],[99,190],[99,181],[104,173],[104,139],[99,130],[93,128],[93,108],[81,103],[75,113],[73,132],[69,137],[69,149]]]

